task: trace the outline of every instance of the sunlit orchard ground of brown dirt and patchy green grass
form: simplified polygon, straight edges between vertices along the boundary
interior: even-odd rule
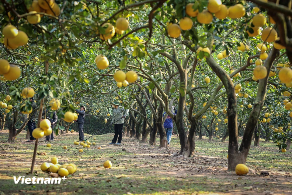
[[[292,194],[292,154],[277,153],[273,142],[251,147],[246,165],[250,172],[237,176],[227,170],[228,140],[196,140],[194,157],[177,156],[179,138],[173,136],[169,150],[141,144],[123,137],[122,145],[108,145],[113,134],[89,139],[95,146],[74,145],[78,133],[57,136],[52,147],[40,139],[34,174],[30,175],[33,143],[25,142],[26,131],[16,143],[6,143],[8,130],[0,131],[0,195],[2,194]],[[89,135],[86,135],[89,137]],[[86,137],[85,137],[86,139]],[[159,138],[157,139],[159,143]],[[68,148],[65,150],[63,146]],[[101,146],[102,149],[97,149]],[[78,150],[84,149],[83,153]],[[77,172],[61,184],[15,184],[13,176],[48,177],[40,170],[43,162],[57,157],[59,164],[75,163]],[[113,167],[105,169],[110,160]]]

